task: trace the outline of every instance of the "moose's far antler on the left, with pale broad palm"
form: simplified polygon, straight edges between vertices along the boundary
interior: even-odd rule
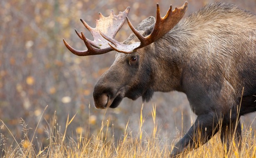
[[[77,32],[77,30],[75,30],[80,39],[85,42],[88,50],[76,50],[72,48],[69,44],[67,44],[65,39],[63,39],[65,46],[67,47],[67,49],[70,50],[70,52],[78,56],[104,54],[112,51],[113,49],[109,46],[108,41],[102,37],[101,33],[109,38],[114,38],[124,24],[125,17],[127,17],[129,10],[130,7],[127,7],[124,12],[119,12],[119,15],[114,15],[114,11],[111,10],[111,14],[109,15],[109,17],[104,17],[101,13],[99,13],[99,20],[96,20],[95,28],[90,27],[84,20],[80,19],[87,28],[87,30],[91,32],[94,41],[87,39],[83,32],[81,32],[80,34],[79,32]]]

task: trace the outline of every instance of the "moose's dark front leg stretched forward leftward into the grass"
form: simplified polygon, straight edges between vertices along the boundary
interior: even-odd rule
[[[197,116],[194,125],[175,144],[170,157],[179,157],[181,154],[206,143],[218,131],[218,128],[216,128],[218,122],[217,115],[213,112]]]

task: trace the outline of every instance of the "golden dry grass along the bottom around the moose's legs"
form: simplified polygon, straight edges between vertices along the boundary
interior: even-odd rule
[[[60,133],[60,126],[58,125],[55,115],[52,123],[48,123],[48,128],[45,132],[48,135],[49,144],[42,147],[40,150],[35,149],[36,132],[32,139],[27,137],[27,132],[30,128],[27,128],[27,124],[24,120],[21,120],[23,126],[24,140],[18,142],[13,136],[13,143],[11,146],[6,146],[5,136],[1,134],[2,144],[0,149],[2,150],[2,158],[167,158],[169,153],[177,140],[170,143],[167,139],[162,139],[160,136],[157,125],[156,106],[152,108],[152,120],[154,128],[152,133],[146,133],[143,131],[144,116],[142,113],[143,106],[141,108],[141,117],[139,118],[139,131],[134,132],[129,130],[129,122],[124,127],[124,134],[119,141],[114,140],[114,126],[110,123],[109,119],[104,118],[102,120],[102,126],[99,129],[97,135],[89,136],[89,132],[77,129],[76,136],[73,138],[66,136],[66,130],[75,118],[71,119],[67,116],[66,126],[64,133]],[[43,114],[40,121],[42,121]],[[3,121],[1,128],[9,128]],[[35,128],[36,131],[37,127]],[[245,126],[242,124],[243,140],[241,142],[242,148],[239,151],[236,148],[235,143],[231,147],[229,152],[223,150],[219,134],[217,133],[206,145],[189,152],[186,158],[255,158],[256,157],[256,130],[251,126]],[[40,144],[40,142],[37,142]]]

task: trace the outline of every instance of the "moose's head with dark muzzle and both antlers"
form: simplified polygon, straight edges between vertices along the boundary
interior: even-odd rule
[[[96,108],[115,108],[124,97],[135,100],[142,96],[143,101],[149,101],[154,91],[167,91],[162,85],[162,80],[154,76],[159,73],[159,66],[154,65],[157,60],[164,60],[159,51],[155,50],[154,42],[169,32],[184,16],[187,2],[182,7],[172,10],[169,7],[164,17],[160,16],[160,8],[157,4],[156,20],[148,17],[137,28],[132,26],[127,17],[130,8],[114,15],[113,10],[109,17],[99,13],[96,27],[92,28],[80,19],[91,32],[94,41],[87,39],[83,32],[75,32],[85,42],[88,50],[78,51],[72,48],[65,39],[65,46],[78,56],[97,55],[117,51],[116,59],[107,72],[105,72],[94,87],[94,105]],[[124,42],[117,42],[114,37],[124,24],[128,22],[133,34]],[[157,54],[159,53],[159,54]],[[174,79],[175,80],[175,79]],[[160,86],[162,85],[162,86]],[[163,87],[163,89],[159,89]]]

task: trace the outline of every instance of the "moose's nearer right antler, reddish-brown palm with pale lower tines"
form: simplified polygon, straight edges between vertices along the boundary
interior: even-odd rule
[[[157,3],[157,20],[154,24],[154,28],[150,35],[147,37],[142,36],[133,26],[130,22],[129,18],[126,17],[129,27],[131,28],[132,32],[138,37],[140,42],[134,42],[132,44],[122,44],[120,42],[117,42],[113,38],[108,37],[107,35],[104,35],[101,33],[101,35],[107,39],[109,42],[109,45],[117,52],[122,53],[132,53],[134,49],[139,49],[142,47],[145,47],[157,39],[164,36],[167,32],[169,32],[184,16],[186,9],[187,9],[188,2],[186,1],[183,6],[179,8],[175,8],[173,11],[172,6],[169,7],[169,10],[167,11],[166,15],[164,17],[160,16],[160,8],[159,4]]]

